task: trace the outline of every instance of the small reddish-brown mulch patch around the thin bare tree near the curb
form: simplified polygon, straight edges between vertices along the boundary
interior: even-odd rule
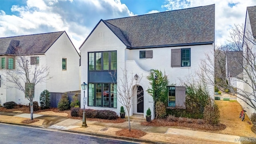
[[[128,136],[128,137],[132,137],[132,138],[141,138],[142,136],[146,135],[146,132],[143,132],[141,130],[134,130],[134,129],[132,129],[131,131],[129,131],[129,129],[122,129],[122,130],[118,130],[116,132],[116,135]]]

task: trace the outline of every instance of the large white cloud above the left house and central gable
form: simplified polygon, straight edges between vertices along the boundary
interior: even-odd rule
[[[120,0],[27,0],[8,15],[0,11],[0,37],[65,30],[76,48],[100,19],[134,15]]]

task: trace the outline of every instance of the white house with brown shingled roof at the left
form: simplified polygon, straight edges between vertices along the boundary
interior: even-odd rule
[[[70,92],[80,90],[79,60],[80,55],[65,31],[26,36],[0,38],[0,104],[14,101],[28,104],[24,92],[8,88],[13,84],[5,82],[6,70],[16,68],[14,47],[20,48],[30,57],[31,66],[48,66],[50,79],[35,86],[34,100],[38,101],[43,90],[49,92]],[[25,85],[25,83],[24,83]]]

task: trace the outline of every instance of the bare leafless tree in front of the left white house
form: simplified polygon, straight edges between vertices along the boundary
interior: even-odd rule
[[[30,101],[30,117],[33,120],[33,97],[34,88],[38,83],[50,79],[49,68],[44,64],[39,64],[39,57],[26,55],[22,47],[14,46],[14,69],[6,69],[7,88],[16,88],[24,92]]]

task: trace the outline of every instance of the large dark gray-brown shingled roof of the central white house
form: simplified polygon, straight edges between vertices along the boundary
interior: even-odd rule
[[[212,44],[215,4],[101,21],[127,48]]]

